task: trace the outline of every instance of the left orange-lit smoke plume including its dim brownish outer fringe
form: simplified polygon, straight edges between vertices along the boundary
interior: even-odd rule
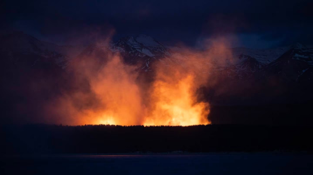
[[[86,61],[86,59],[88,59]],[[78,88],[88,84],[88,90],[70,92],[56,100],[50,111],[63,116],[61,123],[69,125],[110,124],[140,125],[145,117],[134,66],[123,64],[118,54],[107,55],[107,62],[84,57],[71,66]],[[79,81],[78,80],[78,81]],[[85,91],[85,92],[84,92]]]

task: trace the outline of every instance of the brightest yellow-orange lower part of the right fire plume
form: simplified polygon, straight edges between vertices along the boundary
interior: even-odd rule
[[[196,103],[192,92],[193,76],[187,75],[178,81],[171,81],[170,78],[166,80],[157,80],[154,83],[152,95],[155,101],[154,108],[144,125],[188,126],[210,124],[207,119],[209,114],[208,104]]]

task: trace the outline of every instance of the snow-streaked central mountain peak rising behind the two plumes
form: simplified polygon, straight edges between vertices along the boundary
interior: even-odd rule
[[[123,37],[109,44],[91,44],[80,56],[94,56],[100,62],[105,62],[107,55],[114,53],[119,53],[127,64],[140,65],[139,71],[143,72],[152,71],[152,62],[165,60],[172,55],[169,48],[152,37],[141,34],[137,37]]]

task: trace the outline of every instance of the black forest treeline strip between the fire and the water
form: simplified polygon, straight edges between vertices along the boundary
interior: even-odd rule
[[[11,125],[1,127],[1,153],[311,152],[311,133],[308,126]]]

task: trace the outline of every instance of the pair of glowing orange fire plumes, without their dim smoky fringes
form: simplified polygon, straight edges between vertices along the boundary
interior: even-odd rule
[[[134,67],[122,64],[114,56],[97,77],[90,78],[92,91],[103,108],[88,109],[78,115],[78,124],[109,125],[170,125],[188,126],[209,124],[208,103],[196,101],[193,74],[182,74],[174,68],[174,75],[157,69],[156,80],[145,104],[136,83]]]

